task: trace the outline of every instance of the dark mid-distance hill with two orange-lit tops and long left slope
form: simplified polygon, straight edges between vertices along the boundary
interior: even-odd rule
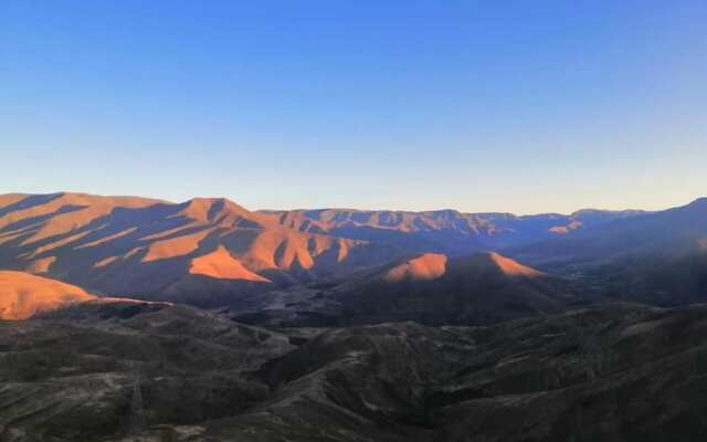
[[[557,312],[585,302],[574,281],[539,272],[500,254],[449,259],[412,255],[331,284],[265,294],[239,320],[288,326],[344,326],[415,320],[489,324]]]

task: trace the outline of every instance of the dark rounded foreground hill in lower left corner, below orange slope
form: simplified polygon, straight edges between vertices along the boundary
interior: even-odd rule
[[[232,415],[270,394],[247,373],[293,348],[283,335],[165,304],[0,320],[0,440],[106,441]]]

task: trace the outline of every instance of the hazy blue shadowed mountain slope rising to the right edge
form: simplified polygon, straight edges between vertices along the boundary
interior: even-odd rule
[[[584,276],[614,297],[658,305],[707,299],[707,199],[616,220],[511,251],[545,269]]]

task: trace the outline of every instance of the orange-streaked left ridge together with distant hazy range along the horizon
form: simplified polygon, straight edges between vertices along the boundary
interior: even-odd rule
[[[581,231],[642,212],[571,215],[249,211],[226,199],[183,203],[82,193],[0,196],[0,266],[99,293],[194,298],[253,292],[384,264],[452,256]]]

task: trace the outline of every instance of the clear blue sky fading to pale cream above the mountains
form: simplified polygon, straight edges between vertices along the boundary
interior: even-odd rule
[[[250,209],[707,196],[707,2],[0,0],[0,193]]]

